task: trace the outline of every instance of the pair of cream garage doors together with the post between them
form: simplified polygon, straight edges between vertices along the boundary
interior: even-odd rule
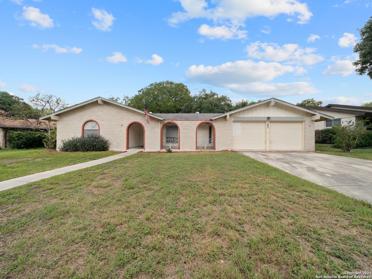
[[[234,150],[302,150],[303,122],[234,121]]]

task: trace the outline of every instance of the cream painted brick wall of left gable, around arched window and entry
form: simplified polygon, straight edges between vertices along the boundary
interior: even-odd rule
[[[93,102],[58,116],[60,116],[60,120],[57,121],[57,147],[64,139],[80,137],[81,125],[84,121],[94,119],[99,123],[100,135],[110,141],[110,150],[125,150],[126,126],[132,121],[139,121],[145,127],[146,150],[159,150],[160,120],[152,117],[152,121],[148,124],[142,113],[107,102],[104,105]]]

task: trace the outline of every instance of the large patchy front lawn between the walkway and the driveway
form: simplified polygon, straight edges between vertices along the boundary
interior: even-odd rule
[[[0,192],[4,278],[371,270],[372,206],[233,152],[137,153]]]

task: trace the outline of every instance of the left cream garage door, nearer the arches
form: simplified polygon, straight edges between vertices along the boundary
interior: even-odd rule
[[[232,122],[234,150],[265,150],[266,122]]]

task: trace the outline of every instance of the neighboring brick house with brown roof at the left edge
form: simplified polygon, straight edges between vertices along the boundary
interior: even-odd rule
[[[32,120],[33,123],[36,123],[36,120]],[[47,121],[43,121],[47,122]],[[57,125],[57,122],[52,121],[51,122],[51,128],[54,129],[55,125]],[[40,127],[41,129],[46,129],[46,125],[42,125]],[[6,117],[1,117],[0,118],[0,146],[1,147],[9,147],[9,144],[7,144],[7,139],[9,136],[9,131],[14,131],[14,130],[33,130],[33,126],[28,123],[27,121],[24,120],[13,120],[13,119],[8,119]]]

